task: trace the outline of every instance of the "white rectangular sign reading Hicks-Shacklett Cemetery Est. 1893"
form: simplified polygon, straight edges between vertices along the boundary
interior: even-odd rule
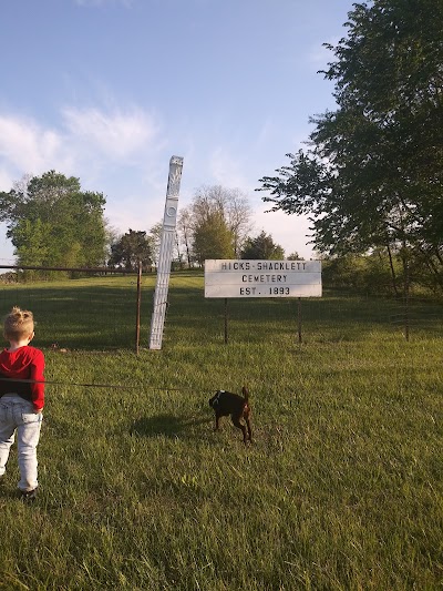
[[[320,297],[321,261],[205,261],[205,297]]]

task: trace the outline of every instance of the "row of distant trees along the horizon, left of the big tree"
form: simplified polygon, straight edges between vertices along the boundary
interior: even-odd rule
[[[80,179],[49,171],[27,176],[0,193],[0,221],[21,266],[155,267],[163,223],[148,231],[113,230],[104,216],[105,196],[84,191]],[[284,258],[265,231],[251,235],[251,207],[238,190],[202,186],[179,208],[174,265],[202,266],[206,258]],[[34,273],[35,275],[35,273]],[[37,274],[38,275],[38,274]]]

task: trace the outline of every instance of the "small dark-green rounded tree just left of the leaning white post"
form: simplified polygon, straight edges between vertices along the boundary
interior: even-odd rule
[[[138,262],[147,271],[152,264],[151,242],[146,232],[130,228],[119,241],[111,245],[111,266],[123,266],[127,271],[136,271]]]

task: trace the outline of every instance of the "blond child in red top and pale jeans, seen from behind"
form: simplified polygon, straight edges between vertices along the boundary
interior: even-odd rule
[[[0,353],[0,480],[17,430],[19,490],[23,500],[33,500],[38,488],[37,446],[44,406],[44,356],[29,345],[34,337],[32,312],[13,307],[3,327],[10,347]]]

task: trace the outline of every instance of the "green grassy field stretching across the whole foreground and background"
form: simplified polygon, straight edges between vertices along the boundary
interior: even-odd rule
[[[223,300],[176,274],[151,351],[154,279],[140,355],[134,278],[1,288],[52,384],[39,498],[16,452],[0,491],[0,589],[442,589],[442,306],[414,304],[406,342],[394,304],[326,292],[299,344],[296,300],[229,300],[225,344]],[[248,447],[207,404],[243,384]]]

